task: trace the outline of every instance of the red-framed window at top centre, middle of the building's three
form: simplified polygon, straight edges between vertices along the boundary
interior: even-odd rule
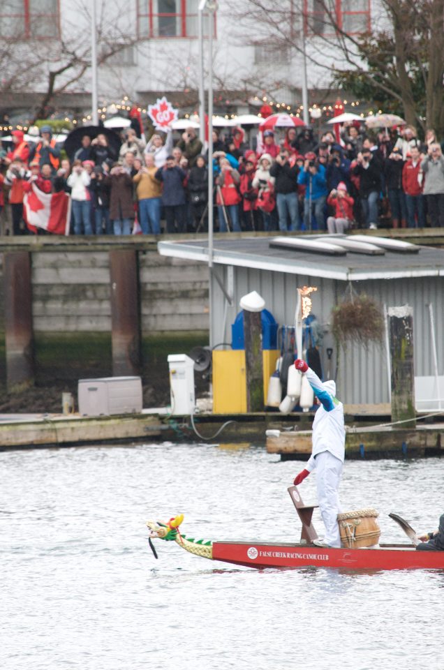
[[[138,36],[144,38],[196,38],[199,0],[138,0]],[[208,36],[209,15],[203,16],[203,34]],[[216,36],[214,13],[213,36]]]

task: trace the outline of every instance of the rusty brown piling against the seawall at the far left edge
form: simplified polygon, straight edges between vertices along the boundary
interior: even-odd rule
[[[20,393],[34,385],[31,255],[8,251],[3,262],[6,383],[8,393]]]

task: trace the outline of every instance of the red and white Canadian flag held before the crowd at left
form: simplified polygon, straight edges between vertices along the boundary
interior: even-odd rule
[[[43,193],[35,184],[24,194],[23,218],[29,230],[43,228],[56,235],[69,234],[71,198],[68,193]]]

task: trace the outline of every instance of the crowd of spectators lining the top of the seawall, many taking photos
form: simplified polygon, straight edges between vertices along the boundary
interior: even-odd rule
[[[263,133],[254,149],[242,128],[213,133],[208,156],[194,128],[175,143],[171,131],[146,143],[128,128],[119,151],[105,134],[84,134],[64,158],[51,128],[28,143],[13,131],[1,149],[0,207],[10,208],[10,234],[26,234],[24,195],[71,195],[73,234],[205,232],[208,161],[214,167],[214,230],[422,228],[444,225],[444,157],[434,131],[424,141],[404,126],[369,133],[343,124],[338,142],[311,128]]]

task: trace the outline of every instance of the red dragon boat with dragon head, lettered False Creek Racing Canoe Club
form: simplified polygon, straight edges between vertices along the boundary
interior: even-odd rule
[[[296,507],[299,519],[302,521],[301,541],[293,542],[204,542],[187,537],[179,531],[184,519],[183,514],[170,521],[147,521],[149,528],[149,544],[157,558],[152,544],[153,538],[175,541],[176,544],[189,553],[210,560],[220,560],[223,563],[232,563],[265,568],[301,568],[301,567],[332,567],[349,570],[400,570],[400,569],[444,569],[444,551],[416,551],[415,544],[419,539],[415,530],[397,514],[389,516],[397,521],[411,540],[410,544],[374,544],[373,546],[359,546],[353,537],[352,546],[343,546],[341,549],[313,544],[318,536],[311,523],[311,515],[316,505],[304,505],[296,486],[288,489]],[[377,513],[376,513],[377,515]],[[372,516],[375,516],[373,514]],[[359,524],[359,519],[355,523]],[[348,525],[350,528],[350,524]],[[372,533],[367,533],[372,535]],[[341,534],[342,537],[342,534]],[[347,539],[347,538],[346,538]],[[354,546],[353,546],[354,545]]]

